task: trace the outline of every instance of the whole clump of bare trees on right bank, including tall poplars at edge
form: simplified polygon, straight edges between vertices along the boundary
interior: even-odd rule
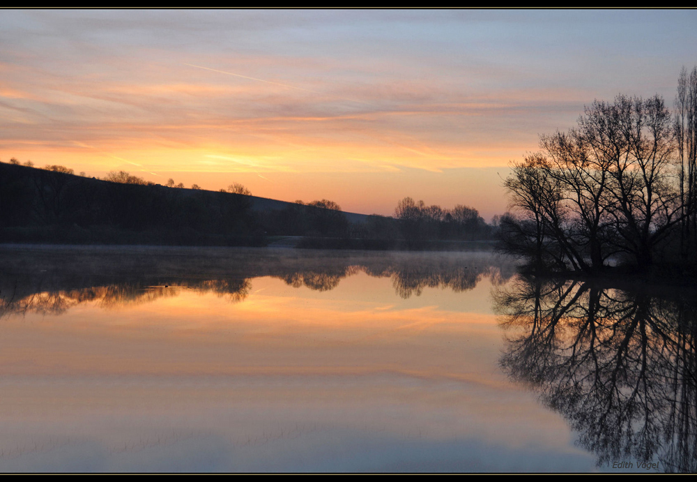
[[[599,273],[697,265],[697,68],[682,71],[675,110],[620,95],[585,107],[576,128],[544,135],[513,163],[503,250],[535,269]]]

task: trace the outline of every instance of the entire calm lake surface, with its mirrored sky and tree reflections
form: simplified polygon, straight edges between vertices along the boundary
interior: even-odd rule
[[[641,347],[598,351],[487,253],[6,247],[0,269],[3,472],[641,472],[597,427],[675,424],[631,416]],[[594,395],[596,352],[629,402]],[[588,416],[603,393],[626,423]]]

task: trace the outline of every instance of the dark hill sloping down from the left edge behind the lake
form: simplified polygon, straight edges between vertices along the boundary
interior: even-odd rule
[[[0,163],[0,242],[261,246],[348,237],[370,216],[251,195]]]

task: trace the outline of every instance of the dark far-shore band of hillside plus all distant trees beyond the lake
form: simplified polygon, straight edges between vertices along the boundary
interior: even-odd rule
[[[493,227],[466,206],[452,210],[405,198],[395,218],[351,223],[328,199],[254,209],[247,188],[160,186],[125,171],[89,178],[59,165],[0,163],[0,236],[4,242],[261,246],[272,236],[302,236],[300,247],[457,249],[491,239]],[[450,244],[448,244],[450,243]]]

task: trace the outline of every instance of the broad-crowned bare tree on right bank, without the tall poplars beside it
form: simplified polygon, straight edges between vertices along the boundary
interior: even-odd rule
[[[650,266],[684,216],[673,133],[659,96],[620,95],[586,107],[577,128],[542,136],[541,151],[514,163],[505,181],[519,220],[505,219],[507,250],[522,242],[535,247],[535,264],[581,271],[618,252]]]

